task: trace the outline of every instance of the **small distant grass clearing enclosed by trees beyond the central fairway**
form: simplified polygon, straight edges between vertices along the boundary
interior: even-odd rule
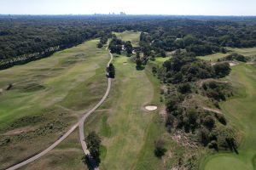
[[[133,47],[137,47],[140,42],[139,31],[124,31],[124,32],[113,32],[119,39],[127,42],[130,41]]]

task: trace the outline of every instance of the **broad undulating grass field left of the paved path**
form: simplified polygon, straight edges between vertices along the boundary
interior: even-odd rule
[[[48,147],[102,98],[108,59],[93,40],[0,71],[0,169]]]

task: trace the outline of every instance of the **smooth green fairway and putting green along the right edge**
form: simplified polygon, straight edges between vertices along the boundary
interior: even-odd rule
[[[205,170],[253,170],[256,165],[256,68],[255,65],[240,64],[232,67],[227,79],[238,90],[238,96],[221,103],[224,114],[239,130],[243,139],[238,148],[239,155],[230,152],[208,156],[202,163]]]

